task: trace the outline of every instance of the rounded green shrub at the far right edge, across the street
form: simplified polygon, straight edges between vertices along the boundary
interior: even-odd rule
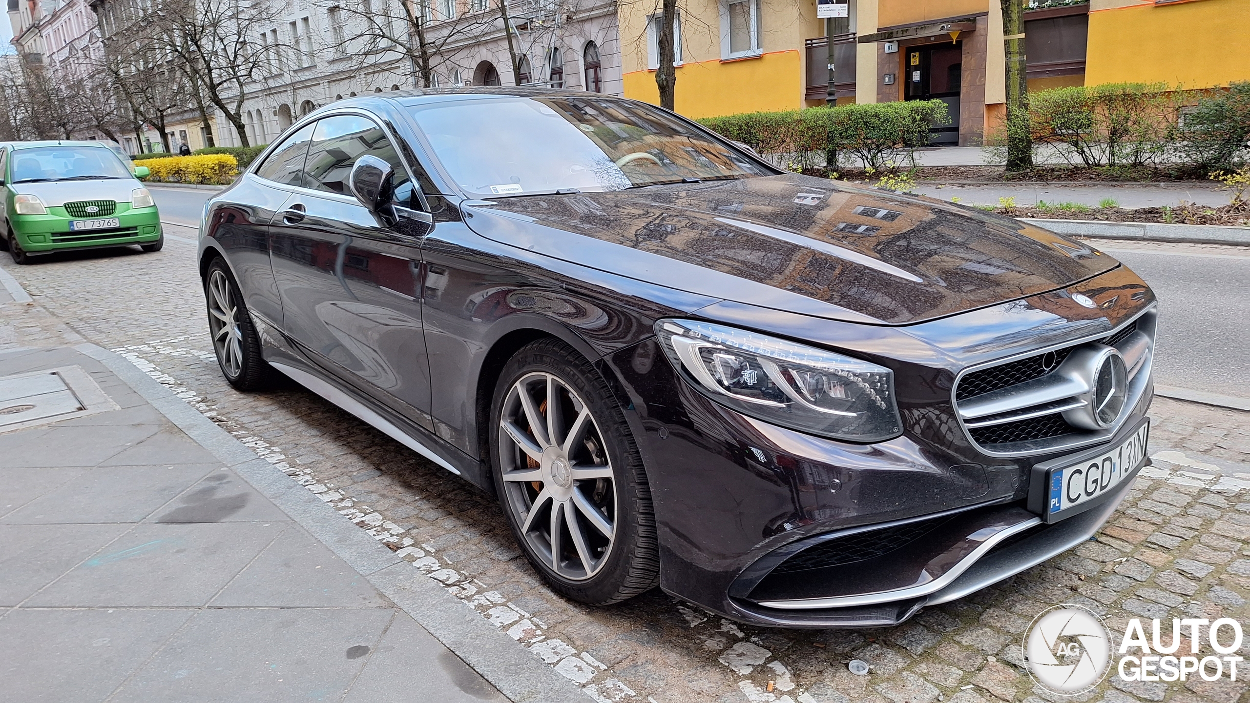
[[[1182,151],[1189,161],[1209,171],[1236,169],[1248,162],[1250,142],[1250,82],[1234,82],[1211,91],[1185,110],[1180,124]]]

